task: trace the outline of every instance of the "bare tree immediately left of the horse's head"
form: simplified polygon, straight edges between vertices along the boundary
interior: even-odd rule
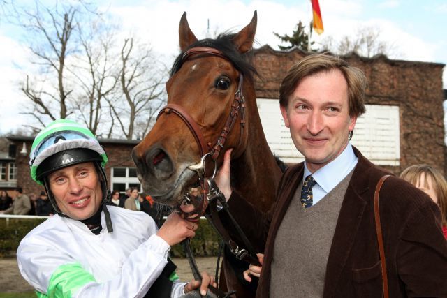
[[[123,135],[130,140],[147,133],[154,113],[164,103],[163,84],[168,71],[166,66],[156,63],[147,45],[136,43],[134,38],[124,40],[120,59],[118,77],[124,102],[117,98],[108,101]]]

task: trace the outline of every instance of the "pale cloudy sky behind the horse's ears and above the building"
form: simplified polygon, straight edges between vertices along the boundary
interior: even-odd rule
[[[16,3],[29,3],[16,0]],[[44,0],[44,3],[54,1]],[[191,30],[200,38],[222,31],[239,31],[254,10],[258,13],[256,45],[281,44],[273,32],[291,34],[299,20],[312,18],[310,0],[115,0],[94,1],[122,25],[123,34],[132,32],[150,43],[161,59],[172,63],[179,53],[178,24],[186,11]],[[324,33],[312,35],[316,43],[332,36],[354,36],[360,27],[375,27],[381,41],[393,46],[392,59],[447,64],[447,1],[441,0],[320,0]],[[18,87],[29,66],[26,44],[16,27],[0,19],[0,135],[16,131],[29,121],[20,114],[29,104]],[[444,69],[444,89],[447,70]]]

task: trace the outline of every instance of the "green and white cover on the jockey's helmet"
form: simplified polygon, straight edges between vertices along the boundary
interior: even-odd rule
[[[37,177],[37,168],[45,158],[68,149],[85,148],[96,151],[102,158],[101,166],[107,163],[107,155],[103,147],[88,128],[75,121],[58,119],[50,123],[34,139],[29,154],[29,165],[31,167],[31,178],[38,184],[43,184]]]

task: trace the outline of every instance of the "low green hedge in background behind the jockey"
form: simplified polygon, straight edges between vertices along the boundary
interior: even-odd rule
[[[0,218],[0,257],[14,255],[20,240],[34,227],[43,223],[45,219]],[[219,251],[220,237],[206,219],[200,219],[200,227],[196,230],[196,237],[191,240],[191,250],[196,257],[215,256]],[[173,246],[171,255],[184,258],[183,247]]]

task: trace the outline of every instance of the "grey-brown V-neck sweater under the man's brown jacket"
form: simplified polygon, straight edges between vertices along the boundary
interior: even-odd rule
[[[274,241],[270,297],[322,297],[326,264],[352,171],[305,209],[298,187]]]

